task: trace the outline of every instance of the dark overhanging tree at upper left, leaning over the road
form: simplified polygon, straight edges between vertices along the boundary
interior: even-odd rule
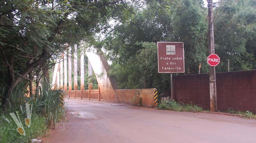
[[[67,45],[90,38],[110,16],[125,8],[123,0],[3,0],[0,2],[1,107],[28,73],[43,67]],[[57,56],[55,56],[57,57]]]

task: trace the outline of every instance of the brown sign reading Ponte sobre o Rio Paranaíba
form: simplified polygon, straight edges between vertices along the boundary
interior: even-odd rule
[[[184,73],[183,42],[157,42],[158,73]]]

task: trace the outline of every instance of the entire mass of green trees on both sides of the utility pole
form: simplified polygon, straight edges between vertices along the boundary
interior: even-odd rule
[[[184,42],[185,74],[208,73],[208,17],[203,1],[145,0],[135,2],[100,44],[113,61],[111,76],[120,88],[158,88],[169,85],[169,75],[159,75],[156,41]],[[254,0],[220,0],[214,11],[217,72],[255,69]],[[153,43],[154,42],[154,43]]]

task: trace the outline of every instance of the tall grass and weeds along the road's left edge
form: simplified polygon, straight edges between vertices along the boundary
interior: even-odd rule
[[[0,142],[1,143],[28,143],[32,139],[39,139],[46,135],[49,129],[57,128],[57,122],[65,120],[65,107],[62,97],[65,95],[62,90],[51,90],[48,82],[43,82],[42,86],[36,89],[36,93],[31,97],[26,97],[26,93],[20,90],[21,86],[12,92],[12,101],[9,108],[1,111],[0,116]],[[28,128],[24,119],[27,117],[25,104],[30,105],[31,125]],[[9,113],[17,113],[17,118],[24,127],[25,136],[20,135],[16,130],[18,126]],[[8,121],[7,121],[8,120]]]

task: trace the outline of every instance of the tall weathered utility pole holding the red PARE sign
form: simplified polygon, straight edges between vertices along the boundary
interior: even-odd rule
[[[213,2],[208,0],[208,48],[209,55],[215,54],[214,51],[214,32],[213,32]],[[217,93],[216,93],[216,72],[215,67],[209,66],[210,78],[210,108],[212,112],[217,112]]]

